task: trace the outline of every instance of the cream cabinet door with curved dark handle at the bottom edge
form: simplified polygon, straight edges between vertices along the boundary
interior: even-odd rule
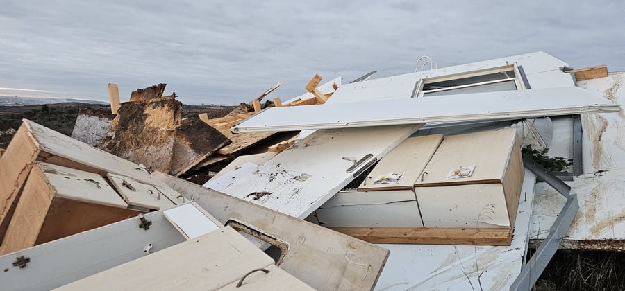
[[[269,265],[265,270],[269,273],[253,272],[245,277],[242,285],[237,286],[239,281],[235,281],[219,288],[219,291],[315,290],[276,265]]]

